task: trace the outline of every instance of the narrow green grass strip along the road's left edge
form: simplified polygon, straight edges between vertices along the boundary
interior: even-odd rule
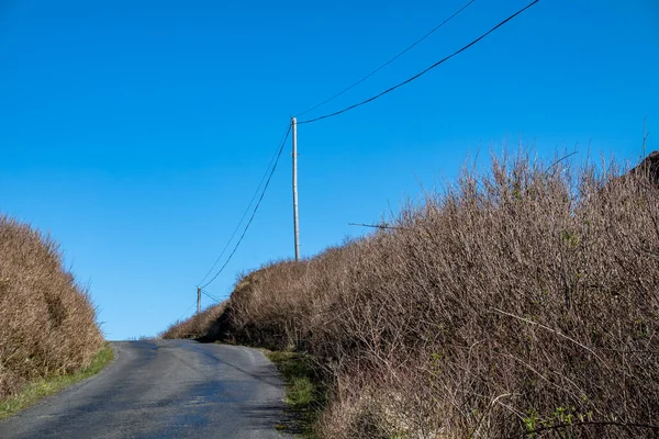
[[[0,419],[10,417],[32,406],[41,398],[54,395],[71,384],[96,375],[113,357],[112,348],[110,348],[110,345],[105,345],[97,353],[89,367],[68,375],[48,378],[27,384],[21,393],[0,399]]]

